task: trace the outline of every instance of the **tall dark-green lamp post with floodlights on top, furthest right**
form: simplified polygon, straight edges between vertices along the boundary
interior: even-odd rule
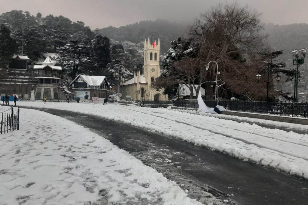
[[[296,65],[295,79],[294,79],[294,102],[298,102],[298,98],[297,98],[298,81],[302,78],[300,75],[298,76],[298,74],[299,74],[298,65],[304,64],[306,52],[307,52],[307,48],[295,49],[295,50],[291,51],[292,57],[293,57],[293,65]],[[298,53],[301,54],[300,57],[299,57]],[[299,77],[301,77],[301,78],[299,78]]]

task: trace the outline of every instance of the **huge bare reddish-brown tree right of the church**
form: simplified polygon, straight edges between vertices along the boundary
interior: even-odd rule
[[[189,39],[173,45],[167,55],[168,72],[157,84],[163,85],[164,80],[171,84],[172,79],[174,84],[185,83],[198,92],[200,86],[194,85],[216,80],[215,64],[205,71],[205,65],[214,60],[229,93],[244,95],[246,99],[258,96],[255,75],[261,59],[254,56],[260,52],[266,37],[260,34],[263,27],[259,17],[249,6],[237,3],[220,4],[202,14],[191,26]],[[207,86],[208,94],[211,89]]]

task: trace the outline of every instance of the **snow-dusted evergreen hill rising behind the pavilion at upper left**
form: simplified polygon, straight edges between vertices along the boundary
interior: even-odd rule
[[[12,10],[0,15],[0,24],[4,24],[11,31],[11,36],[18,43],[18,53],[22,49],[22,30],[24,31],[24,53],[34,61],[42,53],[57,52],[57,48],[66,45],[67,40],[92,40],[95,34],[81,21],[72,22],[64,16],[49,14],[42,17],[27,11]]]

